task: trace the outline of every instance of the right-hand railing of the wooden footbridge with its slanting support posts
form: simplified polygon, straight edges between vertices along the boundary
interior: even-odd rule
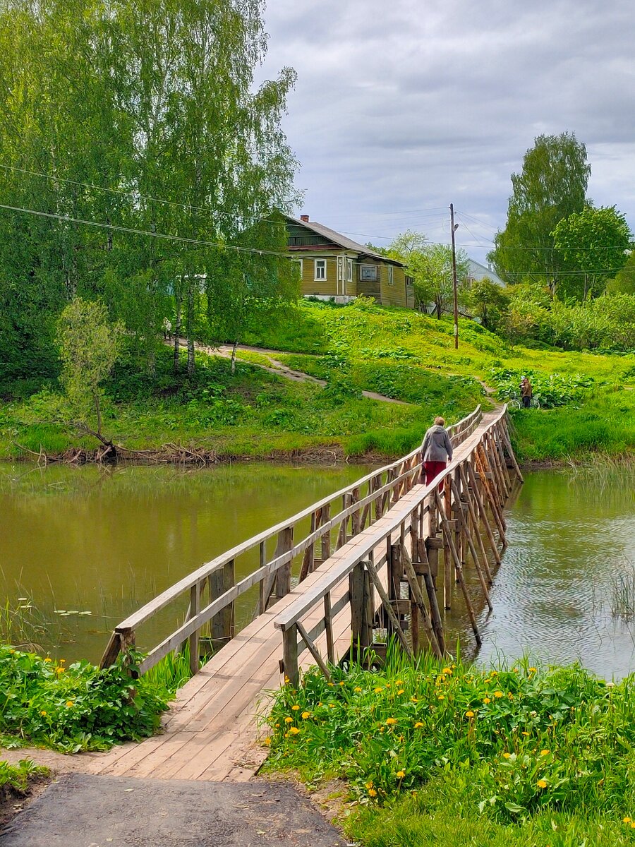
[[[363,654],[373,647],[373,624],[382,617],[406,652],[427,645],[443,656],[444,629],[436,594],[440,550],[444,551],[444,606],[450,609],[451,590],[458,584],[480,645],[477,616],[464,578],[467,556],[491,610],[492,573],[486,544],[493,564],[500,564],[499,545],[505,546],[506,529],[503,504],[512,484],[505,452],[522,481],[505,411],[483,431],[467,456],[450,462],[433,484],[418,490],[416,499],[408,498],[407,507],[395,508],[395,517],[389,523],[384,521],[381,532],[368,533],[365,543],[340,556],[336,567],[329,568],[329,573],[279,613],[274,623],[283,634],[281,669],[291,684],[298,682],[299,656],[305,650],[330,678],[327,662],[333,664],[339,658],[334,653],[334,617],[349,604],[352,650]],[[439,482],[444,485],[444,495],[439,495]],[[384,566],[386,573],[380,576]],[[404,583],[407,599],[401,590]],[[312,628],[303,623],[307,616]],[[406,616],[410,639],[406,638]],[[322,634],[325,656],[317,646]]]

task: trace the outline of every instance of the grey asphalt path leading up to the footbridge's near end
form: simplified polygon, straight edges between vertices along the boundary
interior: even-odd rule
[[[344,847],[290,783],[66,774],[0,833],[3,847]]]

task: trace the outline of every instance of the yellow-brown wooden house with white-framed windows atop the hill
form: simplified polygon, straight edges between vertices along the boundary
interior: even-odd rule
[[[414,308],[414,288],[403,263],[309,220],[306,214],[285,216],[285,222],[304,296],[346,303],[363,294],[384,306]]]

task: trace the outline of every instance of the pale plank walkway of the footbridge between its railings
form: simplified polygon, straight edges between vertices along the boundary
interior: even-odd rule
[[[483,415],[478,429],[456,447],[455,459],[470,455],[483,430],[498,414]],[[414,486],[382,518],[334,551],[327,563],[317,567],[290,594],[259,615],[219,650],[179,690],[164,720],[162,735],[92,756],[87,769],[94,773],[140,778],[236,781],[251,778],[267,756],[267,749],[257,743],[257,714],[263,711],[266,692],[278,688],[282,681],[279,670],[282,638],[279,629],[274,628],[274,619],[318,580],[334,571],[357,546],[367,545],[373,536],[378,538],[378,548],[385,551],[386,529],[395,523],[395,517],[405,518],[410,514],[420,488]],[[333,605],[347,589],[347,580],[334,588]],[[316,612],[316,621],[317,617],[319,612]],[[312,612],[304,621],[307,628],[313,625]],[[334,617],[333,626],[335,655],[339,659],[351,645],[349,604]],[[322,653],[324,638],[322,634],[317,639]],[[314,664],[308,650],[302,664]]]

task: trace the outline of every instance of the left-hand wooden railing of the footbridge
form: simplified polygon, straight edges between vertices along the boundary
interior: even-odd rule
[[[482,411],[478,406],[467,418],[448,428],[455,446],[472,434],[481,418]],[[368,473],[346,488],[203,564],[119,623],[102,656],[101,666],[108,667],[120,651],[135,645],[139,628],[158,612],[187,598],[189,607],[185,621],[150,650],[141,663],[140,671],[145,673],[163,656],[189,643],[191,672],[196,673],[204,632],[209,630],[213,643],[217,645],[234,636],[235,601],[241,595],[258,586],[255,615],[265,612],[271,601],[290,592],[291,568],[295,559],[301,556],[299,579],[305,579],[347,540],[382,518],[400,501],[417,481],[419,470],[417,447],[398,461]],[[309,523],[309,531],[299,540],[295,535],[299,534],[302,523]],[[259,567],[236,582],[236,560],[256,550]]]

